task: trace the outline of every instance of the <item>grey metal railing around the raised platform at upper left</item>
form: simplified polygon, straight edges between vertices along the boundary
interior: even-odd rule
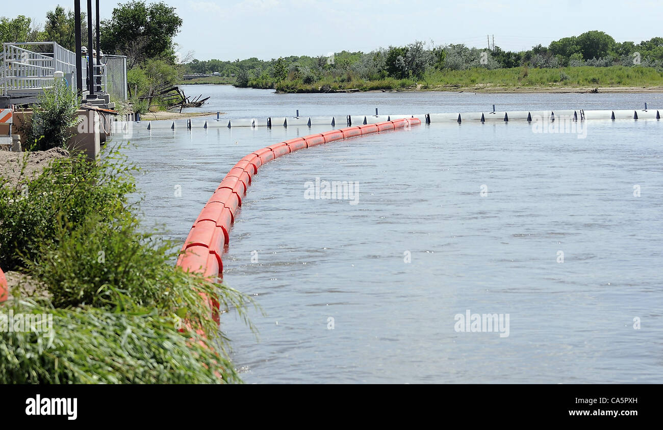
[[[76,54],[56,42],[5,43],[2,57],[3,95],[41,93],[53,86],[56,71],[76,76]],[[76,80],[72,79],[70,85],[76,89]]]

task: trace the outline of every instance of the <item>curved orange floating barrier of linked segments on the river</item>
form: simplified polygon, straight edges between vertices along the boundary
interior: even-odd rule
[[[251,178],[257,174],[258,169],[263,164],[285,154],[323,143],[420,124],[420,119],[406,118],[359,127],[347,127],[341,130],[286,140],[245,156],[223,178],[219,187],[214,191],[208,203],[196,218],[194,226],[186,241],[184,241],[183,252],[178,258],[177,265],[184,270],[200,273],[204,276],[223,278],[221,255],[229,244],[230,227],[235,223],[235,213],[242,205],[242,198],[249,185],[251,185]],[[1,270],[0,274],[2,274]],[[0,288],[3,278],[4,276],[0,278]],[[207,298],[204,295],[203,297]],[[212,318],[218,323],[219,303],[210,299],[210,307]]]

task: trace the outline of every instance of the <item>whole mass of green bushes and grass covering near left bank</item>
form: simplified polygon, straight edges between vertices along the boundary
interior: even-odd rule
[[[0,186],[0,267],[43,288],[30,297],[15,288],[0,313],[54,320],[48,337],[0,331],[0,383],[241,382],[201,294],[253,329],[251,299],[174,266],[174,243],[143,228],[129,204],[135,170],[115,148],[96,164],[56,160]]]

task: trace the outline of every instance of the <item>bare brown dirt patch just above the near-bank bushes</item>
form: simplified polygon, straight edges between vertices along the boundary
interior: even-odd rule
[[[69,151],[64,148],[36,152],[0,151],[0,185],[16,186],[21,178],[34,179],[53,160],[68,156]]]

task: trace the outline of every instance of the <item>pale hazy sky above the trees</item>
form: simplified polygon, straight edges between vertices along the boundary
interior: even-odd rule
[[[82,0],[83,9],[86,0]],[[93,2],[94,3],[94,2]],[[101,0],[101,19],[117,0]],[[643,0],[166,0],[184,20],[180,51],[196,58],[278,58],[370,51],[414,40],[505,50],[547,45],[564,36],[603,30],[618,42],[663,36],[663,1]],[[74,1],[4,2],[0,15],[44,21],[56,5]]]

